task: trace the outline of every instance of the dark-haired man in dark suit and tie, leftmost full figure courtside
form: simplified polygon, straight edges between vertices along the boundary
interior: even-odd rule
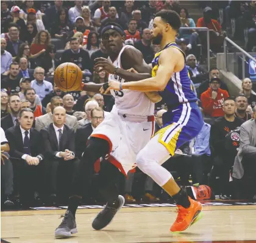
[[[36,191],[40,191],[41,160],[44,159],[41,151],[40,134],[32,128],[34,113],[25,108],[20,111],[20,126],[13,126],[5,131],[10,145],[15,179],[18,176],[20,197],[24,207],[33,205]],[[17,182],[17,180],[16,180]]]

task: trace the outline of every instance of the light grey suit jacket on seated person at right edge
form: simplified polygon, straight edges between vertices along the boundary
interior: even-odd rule
[[[243,155],[251,154],[255,156],[256,161],[256,121],[248,120],[241,125],[240,128],[240,147],[233,167],[232,176],[241,179],[244,176],[244,168],[242,164]]]

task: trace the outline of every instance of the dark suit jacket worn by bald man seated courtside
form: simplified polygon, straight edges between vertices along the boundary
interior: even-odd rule
[[[75,152],[75,134],[73,128],[64,125],[60,148],[52,123],[51,125],[46,126],[46,128],[41,129],[40,134],[43,141],[43,154],[46,158],[56,159],[57,152],[65,151],[65,149]]]

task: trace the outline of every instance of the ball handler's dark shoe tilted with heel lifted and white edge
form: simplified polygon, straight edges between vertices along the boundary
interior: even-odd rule
[[[108,204],[105,205],[105,208],[98,213],[93,221],[92,226],[94,230],[101,230],[110,224],[115,214],[123,207],[124,202],[126,202],[124,197],[119,195],[116,207],[110,207]]]

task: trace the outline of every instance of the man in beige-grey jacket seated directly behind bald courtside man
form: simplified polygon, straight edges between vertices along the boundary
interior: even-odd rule
[[[54,96],[51,98],[51,111],[53,112],[54,108],[57,106],[63,106],[63,100],[59,96]],[[41,129],[45,128],[46,126],[49,126],[51,123],[53,123],[53,117],[52,112],[49,112],[45,115],[41,115],[40,117],[37,117],[35,120],[35,129],[37,131],[40,131]],[[74,115],[68,115],[66,114],[66,121],[65,124],[67,126],[70,126],[75,131],[78,128],[77,118],[74,117]]]

